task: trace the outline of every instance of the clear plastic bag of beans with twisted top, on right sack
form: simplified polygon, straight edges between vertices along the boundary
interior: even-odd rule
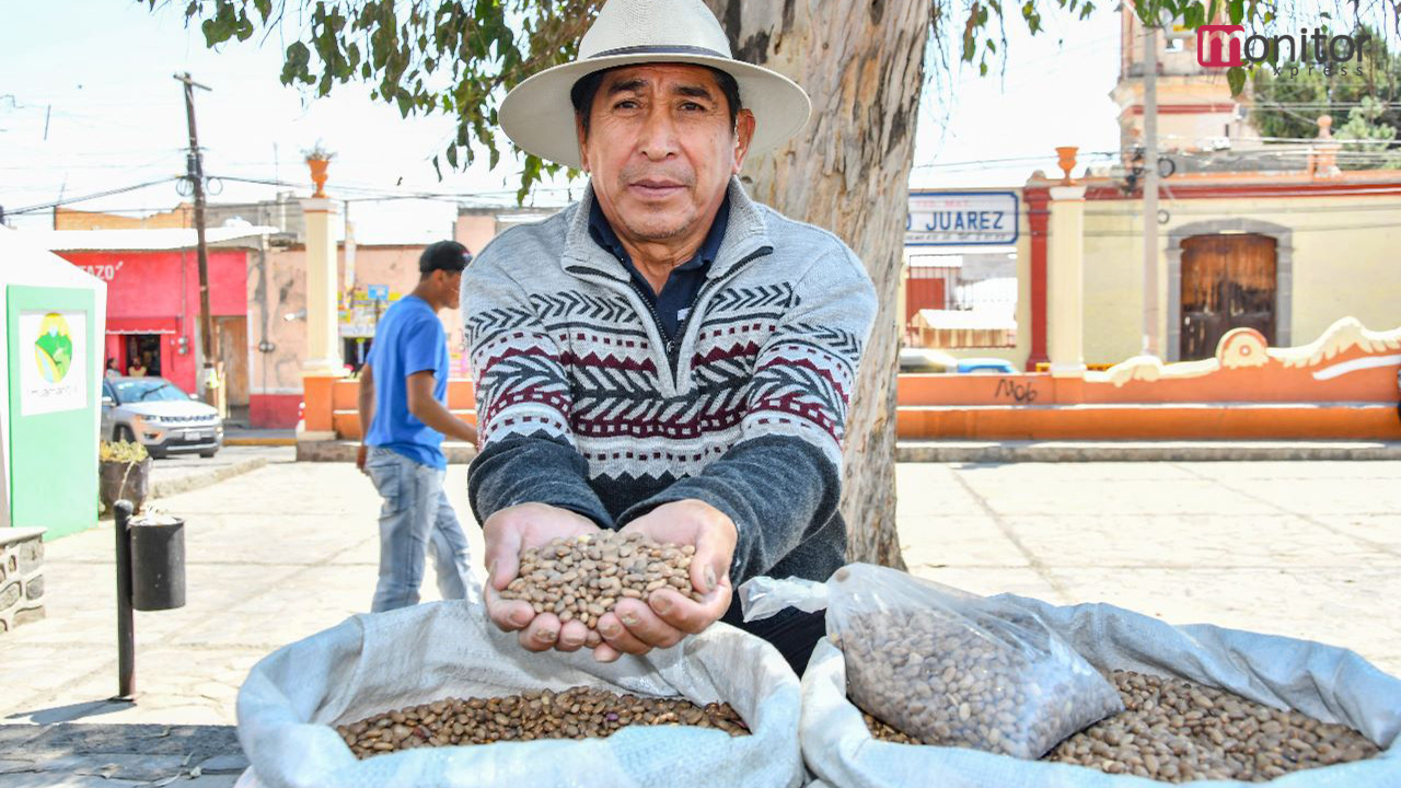
[[[867,564],[827,583],[755,578],[745,621],[820,610],[862,711],[925,745],[1038,759],[1124,711],[1114,686],[1035,614]]]

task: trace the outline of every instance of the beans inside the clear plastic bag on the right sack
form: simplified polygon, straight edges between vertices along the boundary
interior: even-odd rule
[[[856,704],[932,745],[1035,759],[1124,708],[1028,616],[881,610],[845,618],[839,639]]]

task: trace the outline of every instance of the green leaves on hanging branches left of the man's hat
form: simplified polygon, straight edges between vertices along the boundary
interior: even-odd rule
[[[352,80],[405,118],[447,112],[455,139],[433,157],[460,168],[479,150],[496,167],[496,108],[530,74],[573,59],[604,0],[189,0],[210,48],[255,32],[289,39],[280,80],[329,95]],[[998,0],[992,0],[996,3]],[[146,0],[154,8],[163,3]],[[982,24],[986,22],[986,8]],[[520,198],[559,167],[527,157]]]

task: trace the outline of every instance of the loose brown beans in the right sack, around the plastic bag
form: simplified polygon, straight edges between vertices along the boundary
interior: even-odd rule
[[[1292,771],[1374,757],[1362,733],[1178,679],[1115,670],[1126,711],[1061,742],[1044,760],[1163,782],[1265,782]],[[871,736],[920,743],[866,714]]]

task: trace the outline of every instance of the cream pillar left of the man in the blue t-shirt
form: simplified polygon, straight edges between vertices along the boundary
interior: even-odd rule
[[[331,223],[339,215],[325,198],[301,201],[307,217],[307,358],[303,377],[342,377],[336,300],[336,241]]]

